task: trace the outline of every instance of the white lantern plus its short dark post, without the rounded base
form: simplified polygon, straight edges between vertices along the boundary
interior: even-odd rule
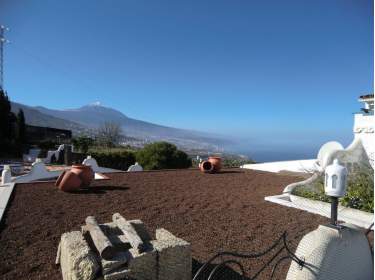
[[[331,197],[331,224],[334,226],[337,226],[339,198],[345,196],[346,193],[347,175],[348,170],[340,165],[337,159],[325,170],[324,190],[326,195]]]

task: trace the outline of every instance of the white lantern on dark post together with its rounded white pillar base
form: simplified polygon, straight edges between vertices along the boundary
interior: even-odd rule
[[[373,279],[374,263],[368,239],[362,230],[337,223],[338,199],[346,193],[348,171],[334,160],[325,169],[325,193],[331,197],[331,223],[306,234],[295,256],[304,266],[292,261],[286,280]]]

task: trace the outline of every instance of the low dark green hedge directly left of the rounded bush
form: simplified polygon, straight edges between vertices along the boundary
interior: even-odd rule
[[[96,159],[99,166],[127,170],[135,163],[135,154],[128,150],[117,151],[96,151],[91,152],[91,156]]]

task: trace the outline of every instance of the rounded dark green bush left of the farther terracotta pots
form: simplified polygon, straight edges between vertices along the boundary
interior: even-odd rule
[[[146,170],[189,168],[192,164],[185,152],[167,142],[146,145],[137,152],[137,161]]]

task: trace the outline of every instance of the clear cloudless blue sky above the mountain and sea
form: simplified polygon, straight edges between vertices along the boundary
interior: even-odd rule
[[[371,0],[0,0],[0,23],[12,100],[100,101],[249,150],[348,144],[373,92]]]

